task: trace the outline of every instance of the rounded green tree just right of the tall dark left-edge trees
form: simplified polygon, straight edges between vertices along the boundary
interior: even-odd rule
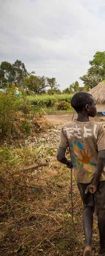
[[[29,90],[34,94],[41,94],[46,92],[46,78],[37,77],[36,75],[30,75],[23,78],[23,88]]]

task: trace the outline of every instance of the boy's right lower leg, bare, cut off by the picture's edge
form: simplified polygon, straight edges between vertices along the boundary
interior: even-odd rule
[[[105,209],[98,209],[98,229],[99,229],[99,238],[100,238],[100,248],[99,255],[105,255]]]

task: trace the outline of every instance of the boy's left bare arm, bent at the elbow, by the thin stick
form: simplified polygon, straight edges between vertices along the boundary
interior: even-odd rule
[[[72,161],[71,160],[68,160],[66,157],[65,157],[65,153],[66,153],[66,149],[64,147],[59,147],[59,150],[58,150],[58,154],[57,154],[57,159],[59,162],[61,162],[62,164],[66,164],[66,166],[68,168],[71,168],[72,167]]]

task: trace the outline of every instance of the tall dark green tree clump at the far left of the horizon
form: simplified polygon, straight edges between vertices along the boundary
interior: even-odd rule
[[[22,87],[23,78],[28,76],[28,72],[21,60],[16,60],[11,64],[7,61],[1,62],[0,65],[0,88],[7,87],[7,83],[19,84]]]

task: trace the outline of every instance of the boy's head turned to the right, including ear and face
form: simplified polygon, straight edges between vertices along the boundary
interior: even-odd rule
[[[93,96],[86,92],[78,92],[73,95],[71,106],[77,113],[85,111],[90,117],[95,117],[97,113],[96,102]]]

